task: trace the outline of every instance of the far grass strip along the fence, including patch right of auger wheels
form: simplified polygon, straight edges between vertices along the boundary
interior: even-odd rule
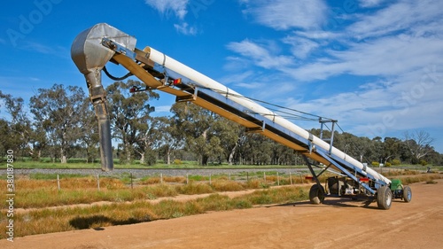
[[[395,174],[394,174],[395,173]],[[312,183],[299,177],[299,175],[271,175],[268,173],[266,182],[263,178],[249,178],[249,181],[229,181],[226,175],[214,175],[209,184],[205,177],[190,178],[189,184],[183,176],[165,176],[163,184],[157,176],[143,179],[133,179],[134,188],[128,183],[126,175],[122,178],[101,177],[100,189],[98,191],[97,178],[93,176],[61,175],[59,182],[57,175],[34,174],[27,176],[17,176],[16,208],[41,208],[47,206],[65,206],[75,204],[90,204],[98,201],[124,202],[141,199],[155,199],[161,197],[174,197],[179,194],[193,195],[214,193],[218,191],[245,191],[251,189],[268,189],[272,185],[290,185],[299,183]],[[408,175],[405,175],[408,174]],[[416,175],[416,171],[401,170],[392,171],[389,178],[400,178],[403,183],[416,183],[433,180],[430,174]],[[258,174],[261,175],[261,174]],[[412,177],[413,175],[414,177]],[[321,176],[321,183],[324,183],[328,174]],[[6,186],[6,180],[0,180],[0,186]],[[199,180],[199,181],[198,181]],[[60,189],[58,189],[58,183]],[[6,194],[6,188],[2,188],[0,193]],[[5,206],[6,204],[0,204]]]

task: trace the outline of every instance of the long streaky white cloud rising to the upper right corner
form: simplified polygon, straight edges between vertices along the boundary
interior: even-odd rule
[[[443,65],[443,20],[437,18],[443,7],[436,11],[434,5],[417,3],[421,2],[404,0],[372,14],[356,15],[358,21],[340,33],[296,31],[282,41],[291,46],[297,60],[250,40],[229,43],[228,47],[256,66],[276,68],[301,82],[341,74],[393,77],[431,64]],[[409,18],[410,12],[414,17]],[[400,21],[404,19],[408,20]],[[363,41],[352,36],[367,34],[372,35]],[[335,43],[334,50],[330,43]],[[322,48],[323,57],[309,57]]]

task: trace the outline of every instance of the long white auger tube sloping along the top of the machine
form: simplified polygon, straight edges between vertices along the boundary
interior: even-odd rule
[[[195,82],[201,87],[208,88],[208,89],[214,89],[216,91],[221,92],[229,92],[228,98],[234,102],[236,102],[239,105],[245,106],[245,108],[252,110],[255,113],[261,113],[263,117],[267,118],[269,121],[275,122],[278,125],[281,125],[284,128],[287,128],[294,132],[295,134],[305,138],[309,139],[309,132],[305,130],[304,128],[300,128],[299,126],[295,125],[291,121],[287,121],[281,116],[277,115],[276,113],[273,113],[269,111],[267,108],[253,102],[250,99],[247,99],[245,97],[241,97],[240,94],[238,94],[236,91],[227,88],[226,86],[222,85],[219,82],[214,81],[213,79],[207,77],[205,74],[201,74],[198,71],[190,68],[189,66],[185,66],[182,63],[176,61],[174,58],[170,58],[164,53],[161,53],[159,51],[156,51],[152,48],[150,48],[150,55],[149,58],[152,59],[155,63],[165,66],[166,68],[174,71],[176,74],[183,75],[183,77],[186,77],[190,79],[190,81]],[[272,117],[272,120],[269,118]],[[319,137],[313,136],[312,142],[315,144],[315,146],[318,146],[320,148],[323,148],[323,150],[329,151],[330,150],[330,144],[324,142]],[[332,147],[331,153],[338,158],[342,160],[346,160],[350,164],[354,165],[355,167],[360,168],[363,170],[363,165],[358,160],[354,160],[349,155],[346,155],[346,153],[341,152],[335,147]],[[363,171],[364,172],[364,171]],[[385,182],[386,184],[391,183],[389,179],[387,179],[385,176],[378,174],[375,170],[373,170],[370,167],[366,167],[366,173],[368,175],[373,176],[377,180],[381,180]]]

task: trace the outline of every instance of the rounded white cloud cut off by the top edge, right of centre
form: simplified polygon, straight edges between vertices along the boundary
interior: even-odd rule
[[[292,27],[315,29],[322,26],[326,4],[321,0],[241,1],[245,14],[259,23],[279,30]]]

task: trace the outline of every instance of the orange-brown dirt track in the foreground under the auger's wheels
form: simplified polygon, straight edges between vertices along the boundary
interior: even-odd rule
[[[443,180],[411,185],[411,203],[327,198],[173,220],[18,237],[0,248],[443,248]]]

